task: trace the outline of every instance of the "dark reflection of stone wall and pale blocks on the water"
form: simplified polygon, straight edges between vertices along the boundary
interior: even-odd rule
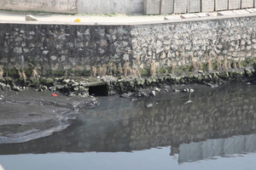
[[[100,107],[84,111],[63,132],[22,144],[0,144],[0,154],[116,152],[171,145],[171,155],[179,154],[178,161],[184,162],[255,151],[256,86],[193,88],[193,102],[187,105],[188,94],[172,92],[137,101],[103,97]],[[151,102],[157,105],[146,108]]]

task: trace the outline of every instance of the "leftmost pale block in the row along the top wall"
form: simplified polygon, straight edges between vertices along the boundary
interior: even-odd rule
[[[143,0],[144,14],[160,14],[160,0]]]

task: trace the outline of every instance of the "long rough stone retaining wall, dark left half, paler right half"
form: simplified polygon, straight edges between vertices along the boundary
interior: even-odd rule
[[[87,75],[92,66],[146,71],[256,57],[256,14],[141,25],[0,23],[0,67],[39,75]],[[17,71],[17,70],[16,70]],[[5,71],[6,72],[6,71]]]

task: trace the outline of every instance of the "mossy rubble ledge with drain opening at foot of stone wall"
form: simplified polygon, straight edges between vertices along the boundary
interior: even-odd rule
[[[27,88],[34,88],[39,92],[51,91],[52,93],[68,96],[88,97],[95,94],[134,93],[147,88],[161,88],[165,84],[170,86],[177,84],[205,84],[214,88],[214,84],[224,82],[247,81],[253,83],[253,77],[255,76],[254,65],[221,71],[182,71],[174,74],[155,75],[154,77],[38,77],[26,79],[20,75],[20,78],[3,77],[0,80],[0,90],[22,91]]]

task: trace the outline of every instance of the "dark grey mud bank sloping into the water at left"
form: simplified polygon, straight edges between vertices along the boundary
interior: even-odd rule
[[[34,89],[1,92],[0,144],[48,136],[68,127],[80,108],[98,105],[94,97],[68,97]]]

